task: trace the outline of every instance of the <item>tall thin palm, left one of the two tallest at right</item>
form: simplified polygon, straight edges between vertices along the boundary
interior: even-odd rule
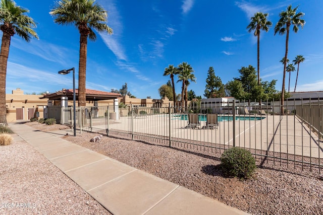
[[[260,43],[260,30],[265,32],[269,31],[269,28],[273,25],[271,21],[267,21],[268,14],[257,12],[251,17],[251,22],[247,26],[248,32],[255,30],[253,35],[257,36],[257,65],[258,65],[258,85],[260,86],[260,71],[259,71],[259,43]]]

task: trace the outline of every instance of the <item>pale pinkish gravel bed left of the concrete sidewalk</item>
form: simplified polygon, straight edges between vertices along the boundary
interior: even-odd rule
[[[0,146],[0,214],[111,214],[25,141]]]

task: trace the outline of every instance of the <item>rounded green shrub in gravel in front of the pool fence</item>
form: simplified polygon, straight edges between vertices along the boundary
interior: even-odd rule
[[[226,175],[240,179],[250,178],[256,170],[255,159],[251,153],[238,147],[224,151],[221,166]]]

